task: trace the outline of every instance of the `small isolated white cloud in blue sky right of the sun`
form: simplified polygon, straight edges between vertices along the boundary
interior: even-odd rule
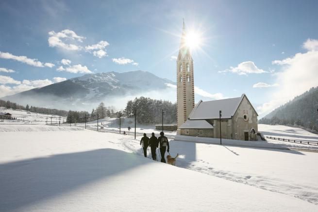
[[[267,71],[264,71],[263,69],[258,68],[251,61],[246,61],[246,62],[240,63],[236,67],[230,67],[230,69],[227,69],[224,71],[218,71],[218,73],[223,73],[223,72],[232,72],[239,75],[247,75],[247,74],[261,74],[261,73],[266,73]]]

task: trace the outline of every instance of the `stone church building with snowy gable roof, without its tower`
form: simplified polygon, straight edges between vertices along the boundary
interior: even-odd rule
[[[257,140],[257,116],[251,102],[242,94],[238,98],[202,101],[193,108],[188,120],[180,126],[181,135],[220,137],[237,140]]]

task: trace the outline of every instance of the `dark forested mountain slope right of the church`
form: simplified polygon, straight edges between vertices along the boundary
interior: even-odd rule
[[[318,131],[318,87],[295,97],[260,119],[260,124],[298,125]]]

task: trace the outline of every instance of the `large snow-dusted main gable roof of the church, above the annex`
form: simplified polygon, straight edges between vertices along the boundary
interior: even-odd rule
[[[242,94],[241,97],[237,98],[225,98],[213,101],[200,100],[199,103],[193,108],[192,112],[189,114],[189,119],[216,119],[219,118],[219,111],[222,111],[221,118],[231,118],[235,114],[238,106],[240,105],[244,97],[246,97],[245,94]]]

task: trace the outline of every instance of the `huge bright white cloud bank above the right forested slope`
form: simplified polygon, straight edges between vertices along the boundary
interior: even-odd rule
[[[305,46],[307,42],[308,40],[303,45]],[[276,83],[280,84],[280,89],[271,94],[270,101],[257,108],[259,114],[267,114],[295,96],[318,85],[318,77],[316,77],[318,50],[312,49],[306,53],[296,53],[293,57],[275,60],[272,63],[281,66],[280,72],[275,74]]]

